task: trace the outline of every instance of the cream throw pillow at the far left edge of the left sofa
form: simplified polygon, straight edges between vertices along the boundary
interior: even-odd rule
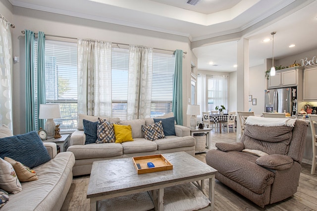
[[[0,158],[0,188],[13,194],[22,190],[22,185],[12,165],[2,158]]]

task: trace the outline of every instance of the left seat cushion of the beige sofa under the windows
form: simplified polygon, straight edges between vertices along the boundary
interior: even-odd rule
[[[74,153],[76,160],[90,158],[108,158],[123,154],[121,144],[101,143],[87,145],[72,145],[67,148],[67,152]]]

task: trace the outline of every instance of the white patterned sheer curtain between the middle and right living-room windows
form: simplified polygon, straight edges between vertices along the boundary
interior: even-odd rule
[[[130,45],[127,119],[151,115],[153,48]]]

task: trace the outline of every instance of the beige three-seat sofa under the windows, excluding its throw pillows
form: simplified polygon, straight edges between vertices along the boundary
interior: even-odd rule
[[[167,114],[157,117],[159,119],[173,117]],[[120,121],[118,118],[106,118],[106,121],[119,125],[130,125],[132,127],[132,137],[134,141],[123,143],[91,143],[85,145],[85,133],[83,130],[83,119],[97,122],[98,117],[87,115],[78,116],[77,130],[71,135],[67,151],[75,155],[75,165],[73,175],[90,174],[94,161],[102,161],[117,158],[127,158],[143,155],[154,155],[161,153],[171,153],[185,151],[195,156],[195,138],[190,136],[188,127],[175,125],[176,135],[169,135],[166,138],[149,141],[144,138],[141,126],[154,123],[153,118]]]

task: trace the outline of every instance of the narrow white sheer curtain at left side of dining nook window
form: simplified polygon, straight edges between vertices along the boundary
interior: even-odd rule
[[[206,75],[199,74],[197,77],[197,104],[200,105],[201,114],[197,117],[198,120],[202,119],[202,112],[209,111],[206,99],[207,99]]]

